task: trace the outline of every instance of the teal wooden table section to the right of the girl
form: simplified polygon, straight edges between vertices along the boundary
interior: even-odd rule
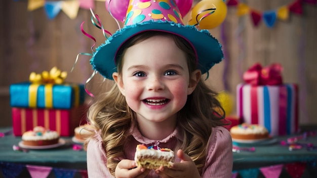
[[[252,168],[266,165],[275,165],[291,162],[317,161],[317,136],[310,136],[306,139],[299,139],[298,144],[303,144],[301,149],[290,151],[289,146],[282,145],[281,142],[289,138],[300,137],[302,134],[273,138],[267,143],[235,143],[233,145],[240,148],[255,148],[254,152],[240,151],[233,153],[233,169]],[[308,150],[304,146],[312,144],[315,146]]]

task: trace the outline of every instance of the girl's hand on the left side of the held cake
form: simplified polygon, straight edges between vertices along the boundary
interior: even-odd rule
[[[123,159],[115,167],[115,177],[143,178],[150,172],[149,169],[137,167],[133,160]]]

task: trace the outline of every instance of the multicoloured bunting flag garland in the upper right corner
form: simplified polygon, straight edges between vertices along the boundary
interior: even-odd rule
[[[303,14],[302,4],[307,3],[310,5],[316,5],[317,0],[295,0],[294,2],[290,3],[289,5],[284,5],[280,8],[274,10],[267,10],[264,12],[260,12],[252,7],[249,7],[245,3],[240,3],[239,0],[228,0],[227,6],[228,7],[236,7],[237,12],[236,15],[241,17],[245,15],[250,15],[253,21],[253,25],[257,27],[261,20],[266,24],[268,28],[272,28],[276,22],[276,20],[283,20],[286,21],[289,19],[289,14],[294,13],[297,15]]]

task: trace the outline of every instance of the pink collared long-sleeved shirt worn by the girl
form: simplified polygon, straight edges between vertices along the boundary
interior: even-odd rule
[[[161,148],[175,148],[177,129],[171,135],[161,141],[149,140],[143,137],[140,131],[134,127],[131,129],[131,140],[124,146],[126,158],[134,160],[136,145],[143,144],[152,146],[158,144]],[[221,126],[215,127],[210,136],[210,144],[206,157],[206,164],[203,168],[202,177],[231,177],[232,176],[232,140],[229,131]],[[113,177],[106,167],[106,154],[102,148],[102,140],[98,133],[94,136],[87,147],[87,169],[88,176]],[[180,162],[176,156],[175,162]],[[152,170],[147,177],[159,177]]]

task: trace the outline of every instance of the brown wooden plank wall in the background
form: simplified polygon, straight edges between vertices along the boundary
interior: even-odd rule
[[[294,1],[243,2],[253,9],[267,11]],[[256,62],[263,66],[279,62],[284,67],[284,81],[299,84],[300,123],[317,123],[316,6],[303,4],[302,16],[290,14],[288,21],[278,20],[272,28],[268,28],[264,22],[254,27],[249,16],[238,17],[236,11],[236,7],[229,7],[223,28],[210,30],[224,44],[227,61],[211,69],[208,84],[220,92],[225,89],[226,81],[227,90],[235,101],[235,87],[242,82],[242,72]],[[100,16],[105,29],[110,32],[116,30],[117,25],[105,11],[104,2],[96,1],[94,12]],[[40,73],[57,66],[68,72],[67,81],[86,82],[92,73],[89,57],[81,56],[74,71],[70,70],[76,55],[90,53],[94,43],[82,34],[80,25],[83,21],[86,32],[96,37],[96,46],[104,42],[104,36],[91,24],[90,17],[89,10],[80,9],[74,20],[62,11],[55,19],[49,20],[44,8],[28,12],[27,1],[0,1],[0,126],[12,124],[10,84],[28,80],[30,72]],[[109,85],[111,82],[103,81],[102,77],[96,76],[87,87],[92,93],[97,94],[100,87],[107,90]]]

